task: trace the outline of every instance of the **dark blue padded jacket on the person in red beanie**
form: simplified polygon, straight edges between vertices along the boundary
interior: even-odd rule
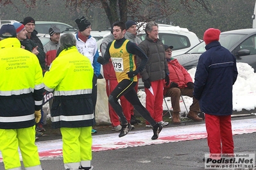
[[[237,79],[234,55],[217,41],[205,46],[194,77],[194,97],[201,111],[216,116],[232,114],[232,86]]]

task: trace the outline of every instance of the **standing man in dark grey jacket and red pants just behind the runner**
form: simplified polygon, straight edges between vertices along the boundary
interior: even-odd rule
[[[145,27],[146,38],[139,47],[148,56],[148,63],[141,72],[146,93],[146,109],[151,117],[163,127],[169,122],[163,121],[164,84],[169,84],[169,70],[164,52],[164,44],[158,39],[158,24],[151,21]],[[141,60],[138,58],[137,64]],[[146,121],[146,127],[151,127]]]

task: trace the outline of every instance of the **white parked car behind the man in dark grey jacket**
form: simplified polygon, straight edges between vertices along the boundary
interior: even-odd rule
[[[145,40],[146,33],[144,31],[146,24],[138,29],[138,36],[141,40]],[[162,43],[173,46],[173,56],[185,53],[195,45],[201,42],[195,33],[187,28],[179,26],[171,26],[167,24],[158,24],[158,38]]]

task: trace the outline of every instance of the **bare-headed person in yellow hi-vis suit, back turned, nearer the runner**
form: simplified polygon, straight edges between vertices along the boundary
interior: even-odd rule
[[[60,37],[58,57],[53,61],[43,82],[54,91],[51,121],[60,128],[65,169],[92,169],[92,78],[90,60],[76,49],[72,34]]]

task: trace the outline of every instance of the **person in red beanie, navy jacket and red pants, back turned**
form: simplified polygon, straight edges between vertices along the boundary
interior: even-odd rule
[[[234,55],[221,46],[219,29],[209,28],[203,35],[205,49],[194,78],[194,98],[205,112],[210,153],[234,153],[232,137],[232,86],[237,79]]]

